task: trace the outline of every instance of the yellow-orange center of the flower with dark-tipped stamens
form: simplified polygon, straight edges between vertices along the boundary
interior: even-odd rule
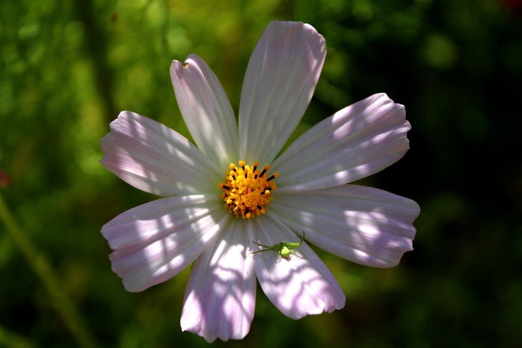
[[[246,166],[245,161],[239,161],[239,167],[231,163],[224,183],[218,185],[223,190],[221,198],[225,208],[236,217],[250,219],[265,214],[266,206],[272,200],[276,184],[270,181],[279,174],[267,178],[266,172],[270,166],[265,166],[263,170],[258,170],[258,166],[259,162],[255,162],[252,168]]]

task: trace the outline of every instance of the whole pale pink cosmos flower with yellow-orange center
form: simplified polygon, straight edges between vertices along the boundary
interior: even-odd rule
[[[254,316],[256,277],[269,300],[299,319],[340,309],[345,295],[310,241],[341,258],[392,267],[412,250],[417,203],[347,184],[408,150],[404,106],[376,94],[336,112],[278,155],[300,122],[326,45],[310,25],[271,22],[252,53],[239,125],[217,77],[197,55],[173,61],[181,114],[197,146],[168,127],[123,111],[102,138],[103,166],[166,198],[102,227],[113,271],[131,292],[195,261],[181,328],[212,342],[242,339]],[[294,254],[256,245],[306,241]],[[256,242],[256,243],[254,243]],[[277,248],[276,248],[277,249]]]

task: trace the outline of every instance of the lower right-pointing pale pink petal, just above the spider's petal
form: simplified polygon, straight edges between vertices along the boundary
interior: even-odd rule
[[[319,248],[366,266],[393,267],[412,250],[419,205],[383,190],[359,186],[281,194],[270,204],[290,228],[305,227]]]

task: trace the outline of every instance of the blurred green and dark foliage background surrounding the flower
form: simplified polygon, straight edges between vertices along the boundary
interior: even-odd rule
[[[169,67],[195,52],[238,111],[270,20],[300,20],[328,54],[296,134],[386,92],[407,107],[411,150],[362,181],[416,200],[416,250],[393,269],[318,251],[347,294],[333,314],[284,317],[258,289],[251,332],[216,346],[522,345],[522,16],[494,0],[4,0],[0,190],[101,346],[206,346],[181,332],[189,270],[143,293],[112,273],[100,234],[154,196],[98,163],[121,110],[189,136]],[[0,345],[76,345],[0,224]]]

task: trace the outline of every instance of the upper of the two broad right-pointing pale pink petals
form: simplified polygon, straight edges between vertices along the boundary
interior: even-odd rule
[[[340,110],[298,138],[272,169],[278,191],[316,190],[358,180],[409,149],[404,106],[376,94]]]

